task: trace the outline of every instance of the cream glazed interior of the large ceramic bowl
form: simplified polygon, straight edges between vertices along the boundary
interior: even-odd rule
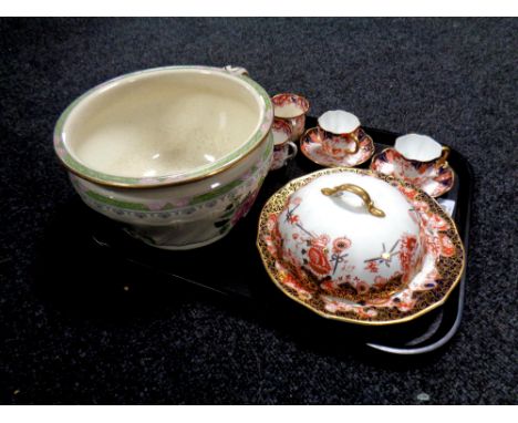
[[[114,80],[82,99],[63,126],[76,161],[123,177],[211,165],[258,130],[257,95],[224,73],[177,70]]]

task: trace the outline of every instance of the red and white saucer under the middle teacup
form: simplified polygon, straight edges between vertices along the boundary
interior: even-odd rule
[[[322,148],[321,144],[322,130],[312,127],[301,136],[300,149],[305,157],[318,165],[325,167],[354,167],[369,161],[374,154],[374,143],[372,138],[360,128],[359,141],[360,148],[354,154],[348,154],[345,157],[338,159],[330,157]]]

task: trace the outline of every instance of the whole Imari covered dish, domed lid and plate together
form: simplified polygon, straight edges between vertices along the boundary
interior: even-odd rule
[[[257,246],[272,281],[320,316],[392,324],[441,306],[458,283],[454,221],[411,184],[332,168],[294,179],[265,205]]]

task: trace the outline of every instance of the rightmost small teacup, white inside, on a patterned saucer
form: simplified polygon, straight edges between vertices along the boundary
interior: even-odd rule
[[[407,134],[397,137],[394,148],[408,162],[413,162],[422,172],[429,167],[447,165],[449,147],[441,145],[427,135]]]

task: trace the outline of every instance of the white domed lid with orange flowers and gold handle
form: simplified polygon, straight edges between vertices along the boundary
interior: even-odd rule
[[[320,282],[350,286],[354,300],[406,286],[425,252],[408,199],[364,173],[323,175],[294,192],[278,229],[286,264]]]

